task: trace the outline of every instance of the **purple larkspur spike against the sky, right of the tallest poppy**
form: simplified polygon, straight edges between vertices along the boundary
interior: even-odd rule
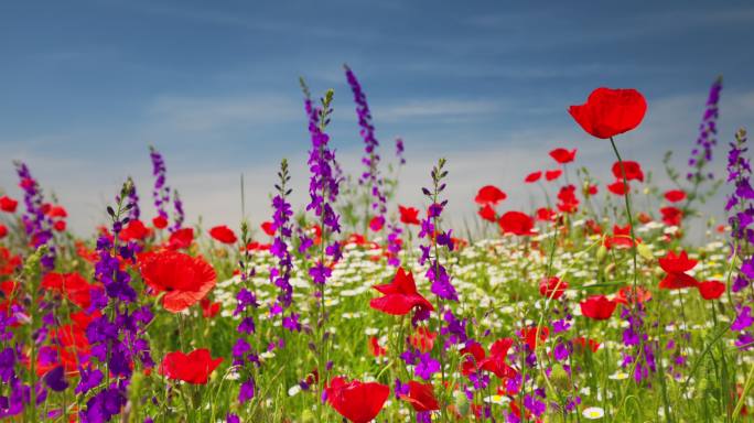
[[[707,99],[707,109],[704,110],[704,116],[702,116],[702,121],[699,126],[699,138],[697,138],[696,147],[691,150],[689,166],[694,170],[686,175],[688,181],[699,183],[703,180],[711,180],[713,177],[712,173],[703,175],[702,167],[704,167],[704,164],[712,161],[712,149],[718,144],[718,102],[720,101],[721,90],[722,77],[719,77],[710,88],[710,96]]]

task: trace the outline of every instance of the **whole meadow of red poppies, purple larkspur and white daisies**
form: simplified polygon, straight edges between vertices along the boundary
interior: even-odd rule
[[[345,79],[362,171],[343,173],[328,135],[333,91],[314,99],[302,79],[308,200],[291,204],[282,160],[265,221],[185,221],[170,158],[151,148],[153,185],[125,174],[107,224],[80,239],[65,198],[14,162],[19,189],[0,188],[0,419],[752,419],[754,191],[745,130],[718,139],[722,79],[700,99],[687,170],[624,160],[621,137],[651,105],[597,88],[563,108],[614,153],[614,178],[563,145],[549,169],[468,193],[465,227],[446,212],[452,156],[396,202],[403,141],[377,140],[347,66]],[[539,204],[508,207],[504,184]],[[715,200],[723,221],[700,212]]]

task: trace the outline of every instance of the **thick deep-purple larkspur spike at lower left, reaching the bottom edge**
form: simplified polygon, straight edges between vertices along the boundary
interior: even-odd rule
[[[132,185],[126,183],[118,198],[131,198]],[[80,381],[76,393],[87,394],[100,386],[103,379],[107,383],[86,402],[79,411],[79,419],[84,423],[108,422],[119,414],[127,403],[127,390],[137,360],[144,368],[154,367],[149,341],[143,336],[147,325],[154,317],[149,305],[137,304],[137,293],[131,286],[131,275],[120,269],[120,260],[136,262],[136,243],[119,245],[118,234],[128,224],[123,216],[133,207],[123,200],[118,200],[118,209],[108,207],[112,218],[112,239],[101,236],[97,240],[99,260],[95,264],[95,278],[105,286],[104,293],[91,290],[91,304],[88,314],[103,311],[86,328],[86,337],[91,345],[90,362],[98,362],[98,367],[89,364],[80,368]],[[110,378],[114,378],[112,380]]]

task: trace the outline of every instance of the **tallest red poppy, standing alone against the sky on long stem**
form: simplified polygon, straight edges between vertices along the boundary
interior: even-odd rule
[[[647,101],[635,89],[597,88],[581,106],[571,106],[568,112],[593,137],[608,139],[628,132],[642,123]]]

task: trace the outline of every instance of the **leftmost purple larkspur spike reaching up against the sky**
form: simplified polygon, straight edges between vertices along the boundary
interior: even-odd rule
[[[23,228],[30,238],[30,245],[36,249],[47,246],[47,253],[42,257],[42,265],[46,270],[55,268],[55,246],[53,239],[53,221],[44,210],[44,195],[39,183],[32,176],[29,166],[23,162],[14,162],[15,172],[21,181],[19,186],[23,189],[23,202],[26,210],[21,216]]]

